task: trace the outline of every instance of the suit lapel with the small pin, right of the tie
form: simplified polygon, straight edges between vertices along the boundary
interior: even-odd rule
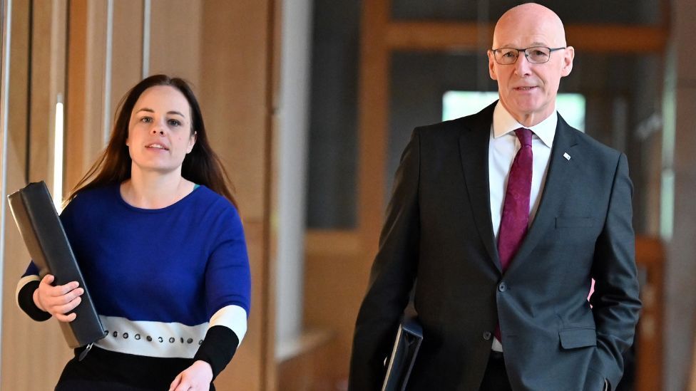
[[[570,177],[573,177],[575,165],[580,162],[577,151],[573,157],[573,147],[577,144],[574,130],[565,120],[558,115],[556,135],[553,138],[551,157],[548,161],[548,173],[541,194],[541,202],[529,227],[529,231],[522,242],[522,246],[510,263],[507,273],[519,267],[520,261],[536,247],[541,238],[551,229],[558,215],[565,194],[570,191]],[[570,157],[569,159],[565,156]]]

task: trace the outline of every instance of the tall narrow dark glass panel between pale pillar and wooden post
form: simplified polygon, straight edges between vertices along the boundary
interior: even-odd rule
[[[315,1],[307,226],[357,224],[359,1]]]

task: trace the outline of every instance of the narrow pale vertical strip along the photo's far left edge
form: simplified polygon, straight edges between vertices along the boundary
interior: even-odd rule
[[[0,148],[2,152],[1,161],[0,161],[0,170],[2,172],[0,173],[0,281],[3,281],[3,269],[4,269],[4,263],[5,263],[5,217],[7,216],[6,213],[6,202],[5,202],[5,195],[7,194],[7,125],[8,125],[8,119],[7,116],[9,115],[9,109],[8,109],[8,103],[7,100],[9,99],[9,93],[10,93],[10,42],[11,42],[11,26],[12,26],[12,0],[5,0],[5,9],[0,10],[0,15],[2,15],[4,11],[4,16],[5,20],[3,21],[2,24],[2,30],[0,31],[0,34],[2,36],[2,52],[0,56],[0,64],[2,66],[2,70],[0,71],[1,75],[1,83],[0,85],[2,86],[2,91],[0,92],[0,136],[1,136],[1,143]],[[2,17],[2,16],[0,16]],[[0,291],[0,313],[2,313],[2,291]],[[0,321],[0,335],[2,335],[2,322]],[[0,339],[0,352],[2,351],[2,340]],[[1,362],[1,357],[0,355],[0,368],[2,367],[2,362]],[[2,377],[2,374],[0,373],[0,377]]]

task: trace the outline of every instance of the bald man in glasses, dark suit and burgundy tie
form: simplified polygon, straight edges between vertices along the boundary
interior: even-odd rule
[[[412,288],[424,340],[407,390],[618,384],[640,310],[633,186],[625,155],[556,112],[574,54],[553,11],[516,6],[488,51],[500,100],[414,130],[357,318],[349,390],[381,389]]]

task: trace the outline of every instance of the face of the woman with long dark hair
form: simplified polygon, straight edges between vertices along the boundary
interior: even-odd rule
[[[150,87],[135,102],[128,122],[126,145],[133,160],[131,171],[181,172],[195,139],[185,96],[168,85]]]

